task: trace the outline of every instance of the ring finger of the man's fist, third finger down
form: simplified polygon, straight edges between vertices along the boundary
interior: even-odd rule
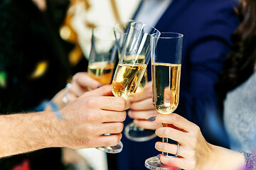
[[[99,130],[103,134],[118,134],[124,129],[124,123],[103,123],[99,126]],[[99,134],[100,135],[100,134]]]

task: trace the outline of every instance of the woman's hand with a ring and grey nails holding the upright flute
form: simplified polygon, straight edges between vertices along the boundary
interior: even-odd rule
[[[170,166],[186,170],[218,170],[239,169],[245,160],[239,152],[210,145],[204,139],[200,128],[175,113],[169,115],[156,115],[151,120],[156,123],[167,123],[169,127],[156,129],[159,137],[168,137],[180,145],[178,157],[165,157],[159,154],[160,161]],[[171,125],[170,125],[171,124]],[[156,149],[161,152],[177,154],[177,145],[156,142]]]

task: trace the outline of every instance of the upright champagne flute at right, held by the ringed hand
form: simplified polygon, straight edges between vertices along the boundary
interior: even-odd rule
[[[155,39],[151,37],[153,105],[159,113],[169,114],[178,107],[183,35],[161,33],[158,40]],[[167,124],[163,125],[164,127],[168,126]],[[162,141],[168,142],[168,138],[163,137]],[[162,154],[171,157],[166,152]],[[162,164],[157,157],[146,159],[145,166],[148,169],[169,169],[169,166]]]

